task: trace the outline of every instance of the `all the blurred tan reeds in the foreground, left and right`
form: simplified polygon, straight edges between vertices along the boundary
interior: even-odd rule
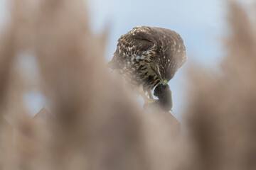
[[[230,3],[223,74],[193,69],[187,128],[141,111],[107,72],[107,35],[90,31],[83,0],[13,0],[0,37],[0,169],[255,169],[255,28]],[[51,104],[31,118],[17,58],[32,54]],[[184,137],[185,136],[185,137]]]

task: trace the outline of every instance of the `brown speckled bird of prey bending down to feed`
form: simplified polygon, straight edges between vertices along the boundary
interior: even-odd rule
[[[153,100],[152,89],[166,85],[186,62],[186,48],[174,30],[139,26],[122,35],[109,63],[134,87],[142,87],[142,97]]]

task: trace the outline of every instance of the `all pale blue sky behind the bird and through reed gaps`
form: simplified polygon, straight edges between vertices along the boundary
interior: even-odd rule
[[[0,30],[6,22],[6,2],[0,0]],[[191,62],[213,68],[220,60],[220,38],[225,30],[223,0],[89,0],[92,30],[100,33],[110,26],[106,62],[111,60],[120,35],[134,26],[157,26],[176,30],[186,45],[188,61],[170,81],[174,113],[181,119],[186,106],[186,67]],[[45,104],[37,91],[24,96],[28,110],[34,114]]]

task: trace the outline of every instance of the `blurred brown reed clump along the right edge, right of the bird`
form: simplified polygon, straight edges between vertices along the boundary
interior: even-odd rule
[[[239,4],[229,6],[223,74],[191,77],[191,169],[256,169],[255,28]]]

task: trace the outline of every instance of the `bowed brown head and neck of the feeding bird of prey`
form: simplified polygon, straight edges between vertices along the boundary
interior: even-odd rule
[[[151,28],[156,40],[154,57],[151,57],[151,68],[166,85],[178,69],[186,62],[186,48],[181,36],[173,30]]]

